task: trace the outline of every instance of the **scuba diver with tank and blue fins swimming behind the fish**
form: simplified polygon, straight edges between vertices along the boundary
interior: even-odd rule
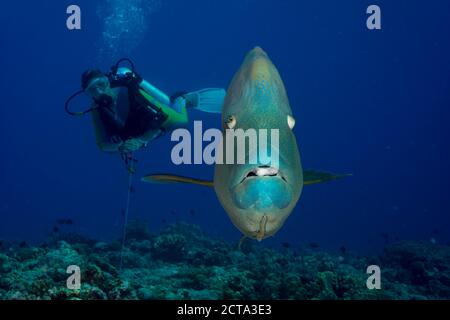
[[[119,67],[127,61],[131,69]],[[177,92],[171,97],[144,80],[129,59],[120,59],[110,73],[92,69],[81,76],[82,90],[66,102],[71,115],[92,112],[96,143],[105,152],[133,153],[151,140],[187,124],[187,109],[220,113],[226,91],[208,88],[195,92]],[[93,105],[88,110],[69,110],[70,101],[86,93]]]

